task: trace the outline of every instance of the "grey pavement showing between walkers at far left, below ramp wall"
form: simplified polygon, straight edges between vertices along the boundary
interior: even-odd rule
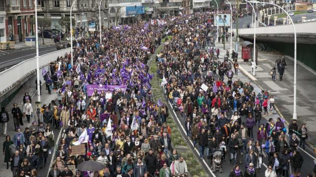
[[[22,88],[16,95],[15,97],[12,99],[11,103],[6,107],[6,111],[9,113],[9,122],[7,123],[7,135],[10,135],[11,137],[11,140],[13,138],[13,135],[14,135],[14,124],[13,124],[13,116],[11,114],[11,109],[12,109],[12,105],[13,105],[13,102],[16,102],[18,103],[17,105],[19,106],[19,108],[21,109],[21,111],[23,111],[23,95],[25,93],[25,91],[32,91],[34,92],[35,89],[34,88]],[[42,95],[40,95],[40,99],[41,99],[41,105],[43,104],[46,104],[48,105],[51,100],[54,100],[56,99],[57,97],[57,91],[56,90],[53,90],[52,91],[52,94],[48,94],[48,91],[45,90],[45,86],[42,86]],[[30,92],[30,95],[32,95],[32,92]],[[37,93],[37,92],[36,92]],[[32,97],[32,107],[33,107],[33,112],[36,111],[36,105],[35,105],[35,102],[37,101],[37,94],[35,94],[35,96]],[[35,121],[35,117],[33,116],[31,118],[31,122],[32,121]],[[38,120],[36,120],[38,121]],[[23,118],[23,124],[24,126],[20,126],[22,131],[24,132],[25,130],[25,127],[29,127],[31,125],[31,123],[28,123],[26,118]],[[58,137],[58,134],[60,133],[60,130],[57,130],[57,129],[54,129],[54,127],[51,127],[53,132],[54,132],[54,135],[55,135],[55,143],[56,143],[56,139]],[[2,132],[2,128],[1,128],[1,132]],[[5,141],[5,137],[3,137],[1,135],[0,137],[0,142],[4,142]],[[52,148],[52,153],[53,153],[53,150],[54,148]],[[46,167],[42,168],[42,169],[38,169],[38,174],[43,177],[44,175],[46,175],[49,171],[49,163],[51,161],[51,157],[52,155],[48,155],[48,158],[47,158],[47,163],[46,163]],[[4,155],[2,153],[0,153],[0,159],[4,159]],[[2,161],[2,160],[1,160]],[[12,172],[9,169],[6,169],[6,163],[0,163],[0,177],[12,177]]]

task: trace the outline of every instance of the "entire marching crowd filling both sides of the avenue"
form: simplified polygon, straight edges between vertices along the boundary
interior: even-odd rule
[[[99,33],[75,41],[73,65],[71,55],[65,54],[49,71],[42,70],[46,89],[56,89],[57,100],[33,110],[26,93],[22,110],[13,105],[16,133],[12,140],[6,135],[3,143],[7,169],[10,162],[13,177],[38,177],[37,169],[46,166],[57,144],[49,177],[186,177],[186,161],[171,146],[168,107],[155,100],[147,65],[161,39],[172,35],[156,59],[157,74],[167,81],[168,101],[185,120],[200,157],[205,149],[209,158],[215,149],[229,152],[235,165],[231,177],[255,177],[263,156],[270,157],[266,177],[288,176],[290,164],[299,173],[304,160],[297,147],[305,147],[305,124],[298,128],[293,120],[287,140],[282,118],[260,123],[262,107],[269,115],[270,103],[274,111],[273,95],[267,90],[255,93],[239,79],[233,82],[237,57],[235,63],[218,61],[219,50],[208,47],[215,33],[213,15],[206,13],[113,27],[103,31],[102,44]],[[1,122],[9,121],[4,108],[0,115]],[[22,131],[23,118],[32,125]],[[66,136],[54,142],[52,128],[63,128]],[[85,153],[73,154],[72,148],[80,144]],[[247,169],[244,173],[237,158]],[[85,161],[98,161],[104,168],[77,169]]]

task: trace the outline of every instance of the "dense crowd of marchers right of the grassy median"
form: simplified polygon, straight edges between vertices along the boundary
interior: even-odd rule
[[[235,79],[228,60],[214,57],[216,51],[205,45],[215,31],[204,23],[207,18],[194,16],[188,24],[178,24],[181,30],[173,30],[157,59],[166,96],[188,137],[198,144],[200,158],[212,159],[221,150],[222,160],[227,153],[229,165],[235,166],[231,177],[255,177],[267,156],[266,177],[289,177],[290,166],[298,177],[304,162],[298,147],[305,148],[306,124],[293,120],[286,129],[283,118],[261,123],[275,112],[274,96],[267,90],[256,93],[250,83]],[[238,164],[245,166],[243,175]]]

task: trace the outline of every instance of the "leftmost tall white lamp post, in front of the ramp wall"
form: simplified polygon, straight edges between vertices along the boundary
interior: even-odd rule
[[[35,6],[35,39],[36,39],[36,78],[38,88],[38,102],[40,102],[40,60],[39,60],[39,34],[38,34],[38,1],[34,0]]]

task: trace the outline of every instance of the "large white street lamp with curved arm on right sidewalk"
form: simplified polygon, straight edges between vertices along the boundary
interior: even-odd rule
[[[252,3],[264,3],[264,4],[271,4],[271,5],[275,5],[278,8],[282,9],[283,12],[286,13],[287,17],[291,20],[292,23],[292,27],[294,30],[294,98],[293,98],[293,119],[297,119],[297,113],[296,113],[296,29],[295,29],[295,25],[293,23],[292,18],[290,17],[290,15],[279,5],[273,4],[273,3],[269,3],[269,2],[259,2],[259,1],[249,1]]]

